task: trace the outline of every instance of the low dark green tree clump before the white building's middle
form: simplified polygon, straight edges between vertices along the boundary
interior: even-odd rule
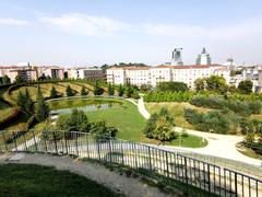
[[[156,89],[163,92],[186,92],[189,90],[188,85],[183,82],[170,81],[170,82],[160,82],[157,84]]]

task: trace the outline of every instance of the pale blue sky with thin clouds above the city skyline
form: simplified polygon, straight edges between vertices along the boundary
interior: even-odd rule
[[[0,65],[262,63],[261,0],[0,0]]]

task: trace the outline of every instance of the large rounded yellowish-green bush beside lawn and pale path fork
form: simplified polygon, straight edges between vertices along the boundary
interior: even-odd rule
[[[166,108],[162,108],[159,114],[153,114],[144,129],[147,138],[158,139],[160,141],[170,141],[176,138],[172,127],[174,118]]]

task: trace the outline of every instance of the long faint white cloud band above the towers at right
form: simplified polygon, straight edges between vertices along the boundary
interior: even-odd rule
[[[259,36],[262,33],[261,20],[250,20],[237,25],[205,27],[198,25],[174,24],[146,24],[144,30],[154,36],[167,36],[179,38],[210,38],[210,39],[246,39],[250,36]],[[247,37],[248,36],[248,37]]]

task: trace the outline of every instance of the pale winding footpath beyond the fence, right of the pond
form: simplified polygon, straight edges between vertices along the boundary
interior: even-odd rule
[[[144,118],[150,118],[150,113],[145,108],[143,97],[139,99],[138,108],[141,115]],[[175,127],[176,131],[181,131],[181,127]],[[187,129],[187,132],[190,135],[199,136],[205,138],[209,141],[209,144],[204,148],[180,148],[180,147],[169,147],[169,146],[162,146],[163,149],[169,151],[189,151],[192,153],[200,153],[206,155],[213,155],[218,158],[225,158],[229,160],[235,160],[248,164],[252,164],[255,166],[262,166],[262,160],[252,159],[241,154],[237,148],[236,143],[243,140],[242,136],[233,136],[233,135],[218,135],[218,134],[210,134],[210,132],[202,132],[196,130]]]

